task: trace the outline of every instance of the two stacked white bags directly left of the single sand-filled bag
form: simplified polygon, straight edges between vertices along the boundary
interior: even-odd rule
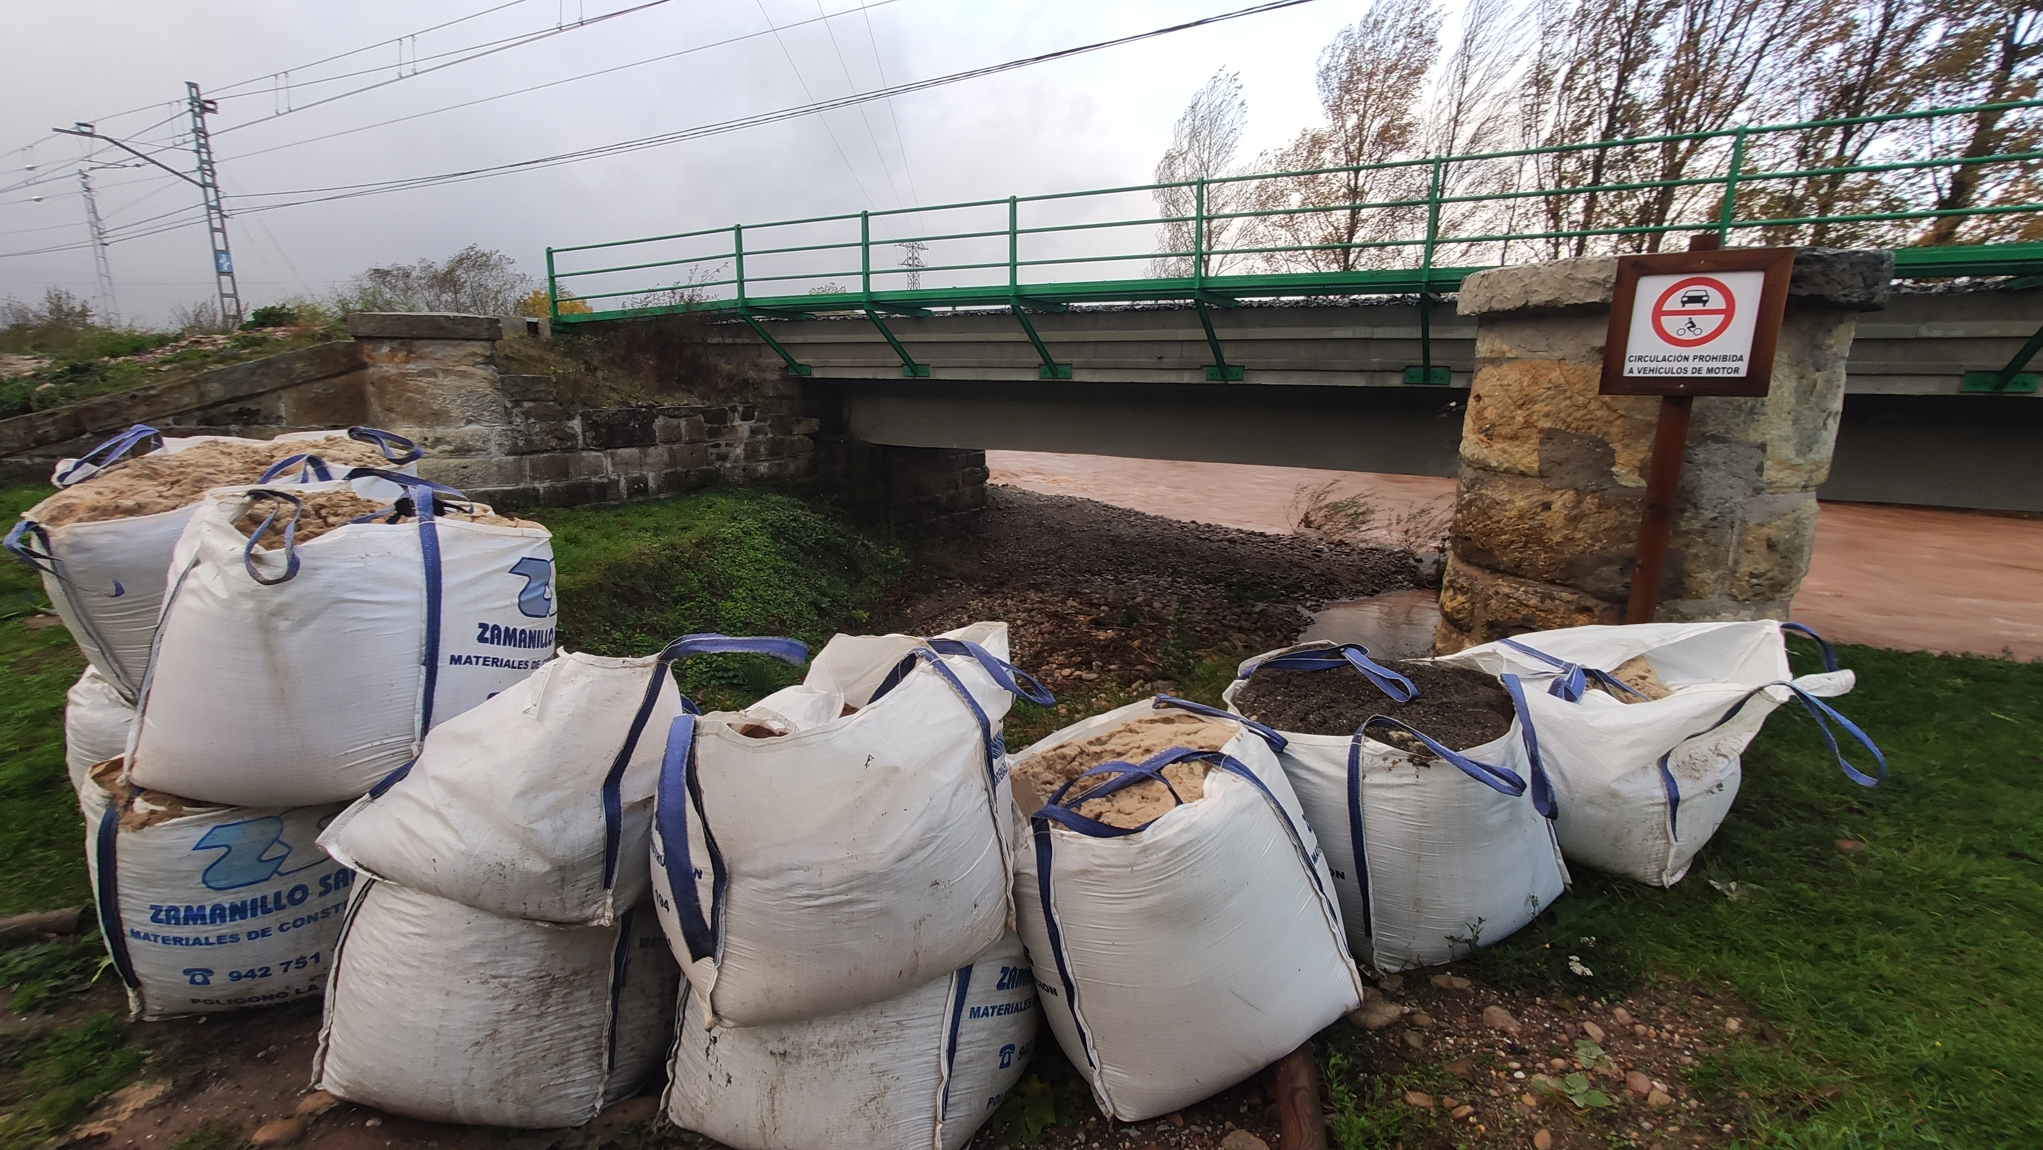
[[[668,727],[652,884],[688,976],[666,1115],[738,1150],[958,1150],[1019,1081],[1007,627],[838,635]]]

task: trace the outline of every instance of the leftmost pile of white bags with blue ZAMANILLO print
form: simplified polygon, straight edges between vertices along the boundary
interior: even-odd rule
[[[67,760],[100,929],[145,1019],[317,995],[351,889],[321,827],[543,658],[484,660],[478,635],[552,631],[548,533],[386,470],[417,460],[402,439],[194,437],[121,460],[155,439],[61,464],[65,490],[8,537],[94,664]]]

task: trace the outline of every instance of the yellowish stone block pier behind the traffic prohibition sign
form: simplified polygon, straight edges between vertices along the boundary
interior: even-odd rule
[[[1804,251],[1765,398],[1698,398],[1659,619],[1786,619],[1816,535],[1855,313],[1886,253]],[[1479,317],[1436,650],[1622,623],[1659,398],[1598,394],[1616,259],[1500,268]]]

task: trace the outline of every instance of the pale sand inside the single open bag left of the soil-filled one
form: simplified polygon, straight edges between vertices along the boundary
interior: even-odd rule
[[[1220,723],[1185,713],[1130,719],[1120,727],[1109,727],[1083,739],[1071,739],[1044,748],[1040,754],[1015,764],[1015,805],[1019,805],[1024,813],[1034,813],[1050,801],[1050,795],[1056,795],[1058,786],[1103,762],[1120,760],[1138,764],[1152,754],[1171,748],[1218,752],[1228,746],[1228,739],[1232,739],[1238,727],[1234,723]],[[1171,780],[1179,799],[1185,803],[1197,803],[1205,797],[1205,762],[1173,762],[1162,768],[1162,776]],[[1111,778],[1111,774],[1097,774],[1071,790],[1073,795],[1085,795]],[[1066,795],[1066,799],[1071,797]],[[1142,782],[1115,790],[1105,799],[1079,803],[1079,813],[1087,819],[1107,823],[1109,827],[1130,829],[1152,819],[1160,819],[1171,813],[1173,807],[1177,807],[1177,799],[1171,797],[1171,790],[1154,778],[1144,778]]]

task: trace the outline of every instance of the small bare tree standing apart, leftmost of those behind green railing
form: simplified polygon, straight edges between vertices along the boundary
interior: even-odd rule
[[[1248,194],[1238,182],[1207,184],[1203,194],[1197,188],[1197,180],[1211,180],[1234,172],[1234,151],[1242,143],[1242,129],[1246,125],[1248,102],[1242,100],[1240,74],[1222,67],[1191,94],[1191,102],[1185,104],[1185,112],[1177,118],[1177,129],[1171,133],[1171,147],[1156,161],[1156,182],[1165,184],[1154,192],[1156,210],[1165,221],[1158,239],[1165,255],[1150,261],[1152,276],[1191,276],[1191,255],[1175,253],[1193,251],[1195,247],[1199,251],[1220,251],[1220,255],[1203,255],[1201,272],[1207,276],[1244,261],[1242,255],[1228,251],[1244,231],[1242,221],[1211,221],[1201,237],[1189,217],[1201,210],[1201,206],[1205,214],[1226,214],[1242,210],[1248,204]]]

